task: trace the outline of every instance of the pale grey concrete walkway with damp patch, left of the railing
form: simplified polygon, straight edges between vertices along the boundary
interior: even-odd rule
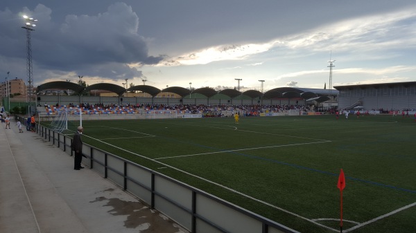
[[[159,212],[85,169],[12,120],[0,124],[0,232],[185,233]]]

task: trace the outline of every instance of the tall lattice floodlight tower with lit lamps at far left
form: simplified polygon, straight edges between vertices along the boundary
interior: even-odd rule
[[[33,29],[36,24],[33,24],[33,22],[37,21],[37,19],[33,19],[31,17],[28,17],[26,15],[23,16],[23,18],[26,21],[25,26],[21,27],[26,30],[26,48],[27,48],[27,59],[26,59],[26,70],[28,75],[28,103],[29,106],[31,106],[32,99],[33,99],[33,66],[32,66],[32,43],[31,43],[31,31],[35,30]],[[36,104],[35,104],[36,105]],[[31,114],[31,109],[29,107],[29,114]]]

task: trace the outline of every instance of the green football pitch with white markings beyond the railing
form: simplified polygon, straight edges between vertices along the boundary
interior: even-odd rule
[[[300,232],[415,232],[416,122],[391,115],[83,121],[89,145]]]

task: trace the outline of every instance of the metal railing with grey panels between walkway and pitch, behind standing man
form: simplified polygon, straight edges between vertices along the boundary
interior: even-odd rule
[[[19,120],[19,118],[17,118]],[[37,135],[71,154],[72,139],[37,124]],[[83,144],[89,167],[189,232],[295,233],[284,225],[134,162]]]

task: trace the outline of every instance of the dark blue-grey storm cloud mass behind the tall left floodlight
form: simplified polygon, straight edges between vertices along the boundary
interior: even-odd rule
[[[41,69],[89,70],[92,76],[110,78],[112,70],[134,77],[141,72],[125,64],[157,64],[163,58],[148,55],[146,38],[138,31],[139,17],[125,3],[114,3],[96,15],[67,15],[61,24],[54,23],[53,10],[42,4],[21,12],[38,19],[31,38],[34,65]],[[0,48],[6,57],[26,59],[21,15],[8,8],[0,11]]]

